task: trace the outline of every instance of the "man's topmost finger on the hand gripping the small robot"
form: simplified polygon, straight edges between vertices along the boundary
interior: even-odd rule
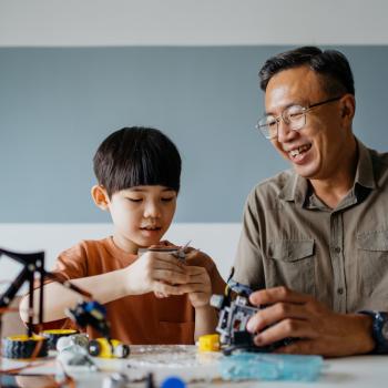
[[[303,304],[310,299],[312,297],[309,295],[290,290],[287,287],[261,289],[249,296],[249,302],[253,305],[272,305],[277,302]]]

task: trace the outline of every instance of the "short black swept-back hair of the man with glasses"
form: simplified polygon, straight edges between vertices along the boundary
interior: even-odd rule
[[[328,95],[355,94],[355,82],[350,64],[337,50],[320,50],[317,47],[302,47],[269,58],[258,75],[265,92],[269,80],[283,70],[306,65],[323,76],[323,86]]]

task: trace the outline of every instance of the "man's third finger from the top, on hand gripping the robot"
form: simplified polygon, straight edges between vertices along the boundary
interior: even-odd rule
[[[265,346],[284,338],[316,338],[316,331],[306,320],[284,319],[254,337],[257,346]]]

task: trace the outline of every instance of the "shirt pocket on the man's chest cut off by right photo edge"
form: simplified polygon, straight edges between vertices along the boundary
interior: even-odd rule
[[[365,296],[388,292],[388,231],[357,234],[357,282]]]

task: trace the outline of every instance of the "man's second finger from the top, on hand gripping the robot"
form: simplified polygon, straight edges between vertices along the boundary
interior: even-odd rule
[[[286,318],[308,319],[308,314],[303,305],[292,303],[277,303],[262,308],[247,324],[247,330],[257,333]]]

